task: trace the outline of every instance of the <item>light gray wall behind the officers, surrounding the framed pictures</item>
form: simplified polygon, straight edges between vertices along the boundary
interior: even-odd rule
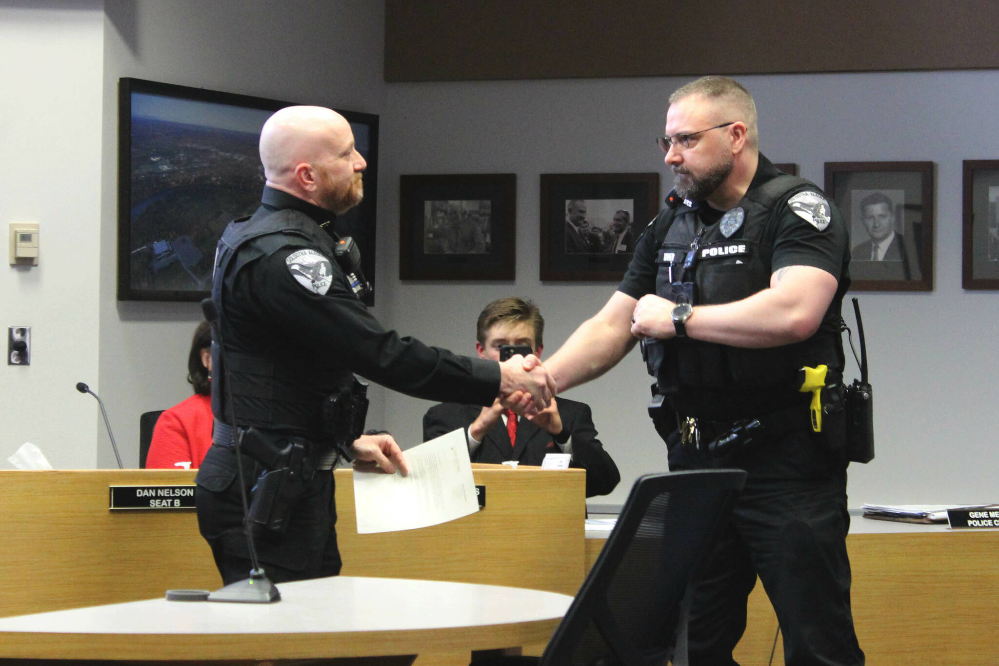
[[[537,280],[538,174],[663,172],[652,137],[679,79],[392,84],[382,81],[382,3],[261,1],[0,3],[0,223],[42,223],[42,266],[0,271],[3,327],[35,327],[29,368],[0,364],[0,453],[38,443],[58,467],[113,464],[93,400],[98,388],[135,465],[138,415],[189,393],[184,359],[194,304],[115,300],[117,80],[121,76],[382,115],[377,314],[401,333],[469,353],[490,300],[533,298],[546,352],[609,297],[612,284]],[[850,472],[850,504],[994,499],[999,452],[994,293],[960,288],[962,159],[999,156],[991,132],[999,72],[744,77],[757,99],[764,153],[819,184],[825,161],[932,160],[935,291],[860,295],[876,392],[878,457]],[[13,156],[11,158],[10,156]],[[517,175],[514,283],[398,281],[398,176]],[[663,174],[663,194],[669,177]],[[632,352],[569,396],[593,406],[621,468],[665,467],[644,416],[648,377]],[[370,422],[404,446],[420,441],[428,402],[373,391]],[[6,463],[5,463],[6,464]]]

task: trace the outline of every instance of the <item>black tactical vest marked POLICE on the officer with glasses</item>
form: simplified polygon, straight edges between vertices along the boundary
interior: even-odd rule
[[[684,202],[663,211],[656,221],[658,233],[665,230],[656,256],[656,295],[677,302],[685,293],[694,306],[720,305],[767,289],[773,273],[771,219],[792,193],[814,187],[794,176],[777,176],[750,189],[709,226],[698,219],[695,204]],[[742,219],[736,224],[739,209]],[[825,332],[761,349],[672,338],[662,340],[661,352],[658,390],[671,399],[676,412],[719,420],[756,417],[794,405],[802,399],[795,385],[800,383],[801,366],[843,364],[839,335]]]

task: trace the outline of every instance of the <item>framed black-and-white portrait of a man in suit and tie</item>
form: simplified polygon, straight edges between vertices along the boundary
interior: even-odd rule
[[[850,233],[851,289],[933,291],[933,163],[826,162]]]

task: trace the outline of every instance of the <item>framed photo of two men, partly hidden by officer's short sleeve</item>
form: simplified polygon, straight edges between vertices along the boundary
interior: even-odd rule
[[[541,174],[540,278],[613,282],[659,211],[659,175]]]

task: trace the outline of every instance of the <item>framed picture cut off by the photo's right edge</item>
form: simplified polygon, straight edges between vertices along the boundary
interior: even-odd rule
[[[999,160],[965,160],[961,287],[999,290]]]

